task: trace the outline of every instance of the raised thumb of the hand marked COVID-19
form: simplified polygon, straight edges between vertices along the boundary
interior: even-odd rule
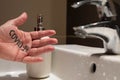
[[[23,12],[19,17],[13,19],[13,24],[15,26],[20,26],[24,24],[26,20],[27,20],[27,13]]]

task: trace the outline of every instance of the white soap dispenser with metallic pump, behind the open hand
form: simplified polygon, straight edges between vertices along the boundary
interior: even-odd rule
[[[35,31],[44,30],[43,27],[43,17],[39,15],[37,17],[37,27],[34,28]],[[43,37],[44,38],[49,38]],[[42,62],[28,63],[27,64],[27,74],[31,78],[45,79],[48,78],[51,72],[51,52],[42,53],[39,55],[43,58]]]

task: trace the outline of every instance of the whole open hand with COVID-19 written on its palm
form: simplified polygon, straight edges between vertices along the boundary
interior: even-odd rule
[[[7,21],[0,27],[0,58],[25,63],[39,62],[43,59],[37,57],[42,53],[53,51],[51,44],[57,39],[40,39],[44,36],[56,34],[54,30],[24,32],[18,29],[27,20],[27,14]]]

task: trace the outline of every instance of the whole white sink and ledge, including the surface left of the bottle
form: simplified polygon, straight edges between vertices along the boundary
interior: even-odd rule
[[[120,56],[105,55],[103,48],[55,45],[50,77],[41,80],[120,80]],[[26,64],[0,60],[0,80],[29,78]]]

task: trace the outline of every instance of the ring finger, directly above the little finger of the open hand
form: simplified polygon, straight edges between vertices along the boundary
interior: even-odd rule
[[[40,48],[32,48],[29,52],[28,55],[29,56],[37,56],[40,55],[42,53],[46,53],[46,52],[51,52],[54,50],[54,47],[51,45],[47,45],[44,47],[40,47]]]

